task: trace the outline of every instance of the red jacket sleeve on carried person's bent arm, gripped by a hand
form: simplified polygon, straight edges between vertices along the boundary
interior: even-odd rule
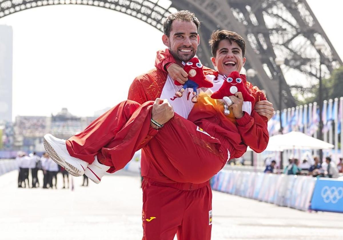
[[[255,103],[257,101],[267,100],[265,94],[258,89],[258,87],[253,87],[249,83],[249,88],[255,97]],[[244,143],[253,151],[261,153],[267,147],[269,141],[267,117],[260,116],[254,109],[252,109],[251,115],[244,112],[244,116],[237,119],[237,128]]]

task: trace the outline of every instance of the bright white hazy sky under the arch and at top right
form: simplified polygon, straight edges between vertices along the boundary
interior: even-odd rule
[[[308,3],[342,58],[342,1]],[[164,48],[162,32],[149,24],[92,6],[39,7],[0,24],[13,27],[13,118],[62,107],[93,116],[125,100],[134,77],[152,69]]]

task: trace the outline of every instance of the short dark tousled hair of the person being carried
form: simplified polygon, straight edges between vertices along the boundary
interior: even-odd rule
[[[242,49],[242,55],[245,55],[245,40],[244,38],[239,35],[238,33],[231,32],[228,30],[217,30],[211,34],[209,44],[211,46],[212,56],[216,57],[218,45],[221,40],[227,39],[229,40],[230,44],[232,41],[236,42],[238,46]]]

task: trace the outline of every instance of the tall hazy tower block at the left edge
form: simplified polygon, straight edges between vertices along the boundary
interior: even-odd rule
[[[13,30],[0,25],[0,122],[12,121]]]

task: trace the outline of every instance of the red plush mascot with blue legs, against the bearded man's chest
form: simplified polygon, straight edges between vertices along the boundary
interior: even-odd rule
[[[192,58],[189,62],[182,62],[185,66],[184,70],[188,74],[188,81],[182,85],[182,88],[175,93],[175,96],[182,97],[182,93],[186,88],[193,88],[192,103],[197,103],[197,88],[199,87],[213,87],[213,83],[206,79],[203,72],[203,65],[199,62],[198,58]],[[181,85],[179,82],[175,81],[176,85]]]

